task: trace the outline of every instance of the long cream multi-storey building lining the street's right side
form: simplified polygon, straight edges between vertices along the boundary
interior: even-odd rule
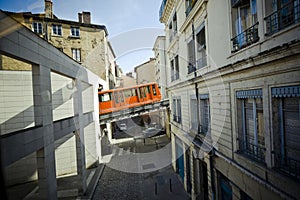
[[[300,198],[299,8],[162,1],[172,156],[192,199]]]

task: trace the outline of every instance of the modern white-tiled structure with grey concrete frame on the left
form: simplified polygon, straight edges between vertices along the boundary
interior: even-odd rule
[[[75,174],[72,195],[84,195],[97,174],[87,168],[101,154],[97,91],[105,81],[2,11],[0,18],[1,55],[30,67],[0,69],[5,184],[38,180],[38,198],[57,199],[57,178]]]

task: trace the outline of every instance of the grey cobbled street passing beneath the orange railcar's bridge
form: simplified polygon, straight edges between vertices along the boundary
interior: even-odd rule
[[[171,166],[170,146],[166,136],[111,145],[93,199],[189,199]]]

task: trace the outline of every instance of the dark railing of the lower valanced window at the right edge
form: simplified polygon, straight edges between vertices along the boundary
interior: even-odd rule
[[[289,158],[282,157],[280,155],[275,155],[275,166],[276,170],[288,174],[297,179],[300,179],[300,161]]]

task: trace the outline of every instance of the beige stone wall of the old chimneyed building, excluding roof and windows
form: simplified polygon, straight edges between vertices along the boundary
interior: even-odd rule
[[[22,25],[28,29],[33,30],[33,22],[42,22],[43,20],[34,20],[33,18],[24,19],[20,14],[11,15]],[[40,37],[46,39],[55,47],[61,49],[66,55],[72,58],[72,48],[81,49],[81,64],[90,71],[98,75],[101,79],[106,80],[106,63],[109,59],[106,57],[106,33],[104,30],[80,26],[80,37],[71,37],[70,24],[60,22],[42,22],[43,34]],[[52,34],[52,24],[62,25],[62,36]],[[45,55],[46,56],[46,55]],[[27,70],[27,66],[23,67],[18,62],[7,61],[4,58],[4,66],[6,69],[21,69]],[[12,67],[15,66],[15,67]],[[3,67],[4,68],[4,67]]]

